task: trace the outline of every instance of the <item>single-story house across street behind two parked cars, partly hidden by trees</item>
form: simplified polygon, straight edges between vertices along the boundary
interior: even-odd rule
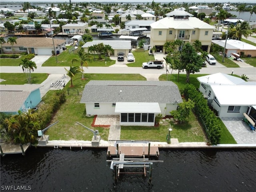
[[[84,48],[85,52],[88,52],[88,47],[94,46],[97,44],[103,43],[104,45],[110,45],[114,50],[114,56],[117,57],[118,53],[124,53],[127,55],[129,50],[132,48],[132,44],[130,40],[95,40],[86,42],[82,47]]]

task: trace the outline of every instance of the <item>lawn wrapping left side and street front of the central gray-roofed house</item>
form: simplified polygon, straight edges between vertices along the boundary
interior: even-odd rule
[[[77,75],[73,78],[74,87],[69,87],[70,82],[65,86],[64,90],[70,95],[67,95],[66,102],[53,116],[51,123],[57,120],[59,122],[45,133],[50,136],[50,140],[92,140],[92,132],[76,124],[76,121],[88,128],[99,130],[102,139],[108,140],[109,128],[92,127],[93,117],[87,117],[84,104],[80,104],[85,84],[90,80],[146,80],[140,74],[86,74],[85,78],[85,80],[81,80],[81,77]],[[46,101],[53,92],[55,90],[48,91],[42,100]]]

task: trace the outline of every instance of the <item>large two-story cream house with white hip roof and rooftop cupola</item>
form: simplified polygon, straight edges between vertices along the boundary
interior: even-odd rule
[[[150,46],[156,46],[157,52],[164,52],[165,42],[179,39],[184,43],[192,44],[199,40],[202,43],[202,50],[210,52],[215,27],[190,16],[189,13],[184,14],[186,14],[184,11],[175,11],[175,14],[169,14],[169,17],[152,23],[150,25]]]

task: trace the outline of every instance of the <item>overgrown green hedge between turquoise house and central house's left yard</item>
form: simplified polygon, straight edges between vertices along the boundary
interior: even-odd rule
[[[52,115],[58,110],[60,105],[66,101],[65,90],[58,90],[49,100],[38,108],[38,121],[40,128],[44,129],[50,123]]]

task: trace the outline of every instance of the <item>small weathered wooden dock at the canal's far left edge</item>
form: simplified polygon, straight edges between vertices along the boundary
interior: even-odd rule
[[[13,144],[13,143],[1,143],[0,149],[2,156],[6,154],[22,154],[25,155],[26,150],[28,150],[30,143],[27,144]]]

